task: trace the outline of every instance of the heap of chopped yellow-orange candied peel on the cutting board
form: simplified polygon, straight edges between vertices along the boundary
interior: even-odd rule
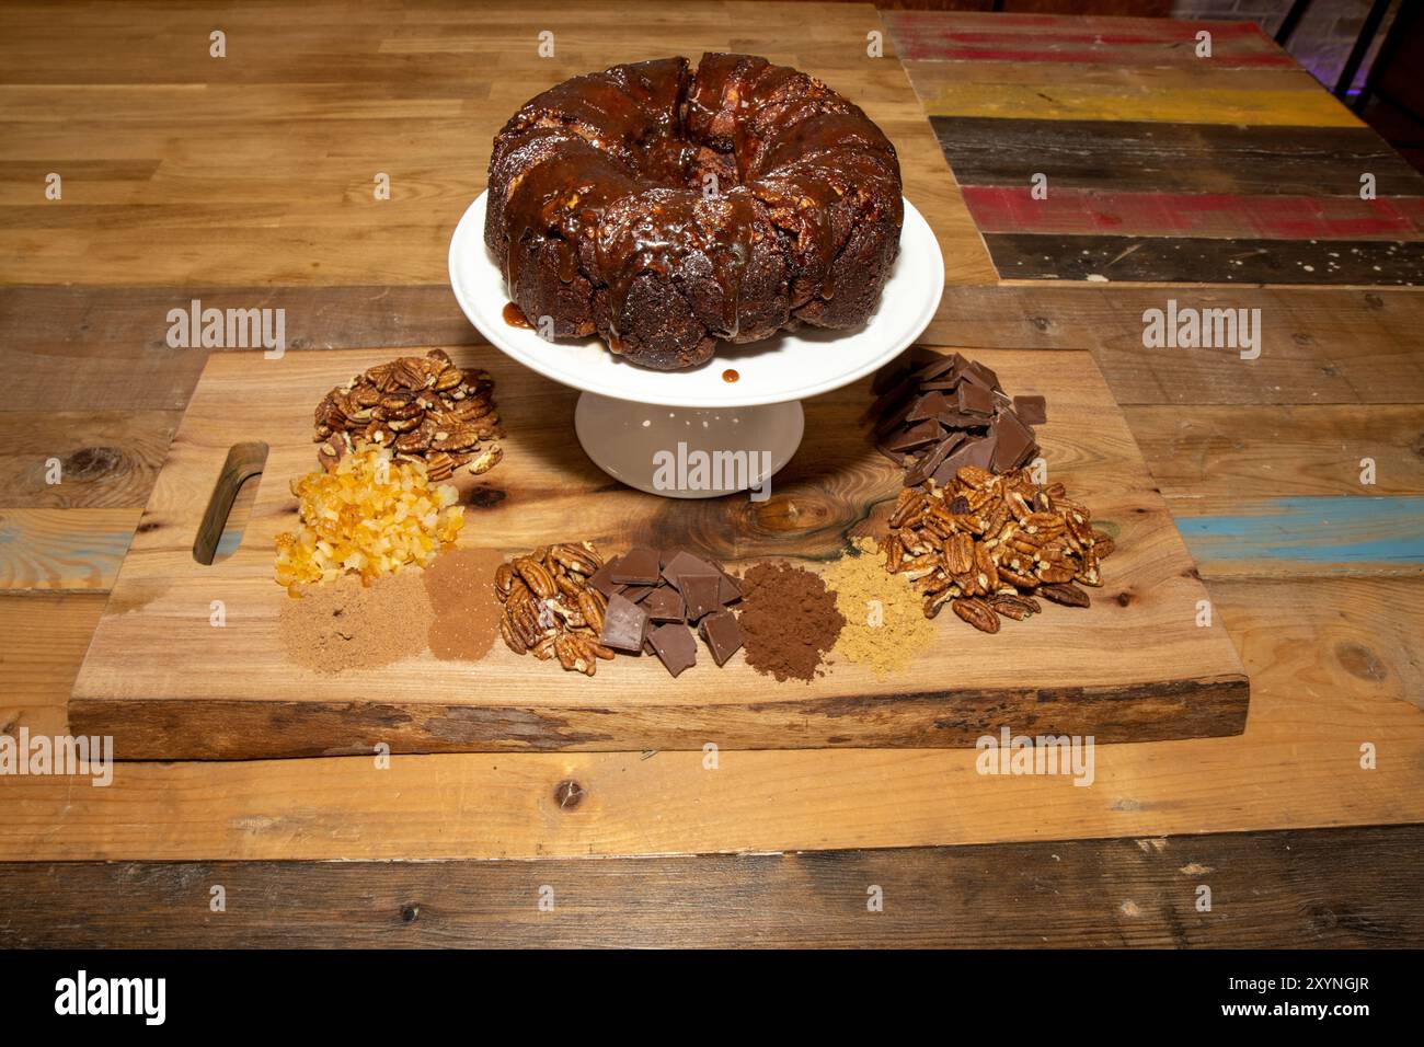
[[[424,567],[464,526],[454,484],[431,486],[423,462],[357,446],[329,473],[292,480],[299,527],[276,536],[276,581],[300,585],[359,574],[370,584],[407,564]]]

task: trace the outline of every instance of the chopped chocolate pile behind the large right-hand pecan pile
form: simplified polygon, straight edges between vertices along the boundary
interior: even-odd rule
[[[906,487],[947,486],[965,466],[1007,473],[1038,454],[1032,426],[1042,396],[1015,396],[998,375],[960,353],[916,348],[876,375],[877,399],[862,417],[886,457],[904,466]]]

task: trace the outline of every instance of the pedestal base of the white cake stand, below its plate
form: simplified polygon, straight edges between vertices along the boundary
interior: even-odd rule
[[[582,393],[574,432],[615,480],[668,499],[715,499],[770,490],[796,453],[806,417],[799,402],[756,407],[661,407]]]

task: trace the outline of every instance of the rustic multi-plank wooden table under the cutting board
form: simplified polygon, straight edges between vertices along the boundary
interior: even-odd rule
[[[0,944],[1424,943],[1424,296],[1400,286],[1424,182],[1259,31],[735,1],[0,16],[0,731],[66,729],[202,365],[168,309],[281,306],[303,350],[471,342],[444,249],[504,115],[723,48],[896,141],[946,252],[926,343],[1092,350],[1253,692],[1245,735],[1102,746],[1091,789],[971,751],[4,778]],[[1143,348],[1169,298],[1259,308],[1259,359]]]

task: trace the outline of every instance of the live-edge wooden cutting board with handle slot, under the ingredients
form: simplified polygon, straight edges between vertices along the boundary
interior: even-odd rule
[[[490,348],[449,352],[494,375],[508,432],[503,463],[461,480],[463,546],[513,554],[591,538],[604,551],[688,546],[733,570],[759,557],[815,566],[879,534],[899,491],[899,472],[856,426],[869,380],[806,402],[805,443],[769,500],[682,501],[627,489],[584,456],[571,424],[577,392]],[[1105,585],[1087,611],[1048,605],[997,635],[944,614],[910,670],[877,679],[837,660],[810,684],[778,684],[740,654],[719,670],[705,651],[676,679],[651,658],[600,664],[585,678],[500,642],[477,664],[423,654],[337,675],[293,665],[276,631],[289,597],[272,557],[275,536],[296,521],[288,481],[316,462],[312,409],[333,385],[402,353],[215,353],[74,685],[71,729],[112,735],[120,759],[369,754],[382,742],[393,752],[967,746],[1005,725],[1101,742],[1239,734],[1249,701],[1240,660],[1216,615],[1198,625],[1206,591],[1092,358],[963,352],[1010,393],[1048,399],[1040,440],[1049,479],[1116,540]],[[205,511],[225,466],[263,472],[236,550],[204,566],[194,543],[221,527],[221,516],[205,524]],[[209,621],[215,600],[221,628]]]

